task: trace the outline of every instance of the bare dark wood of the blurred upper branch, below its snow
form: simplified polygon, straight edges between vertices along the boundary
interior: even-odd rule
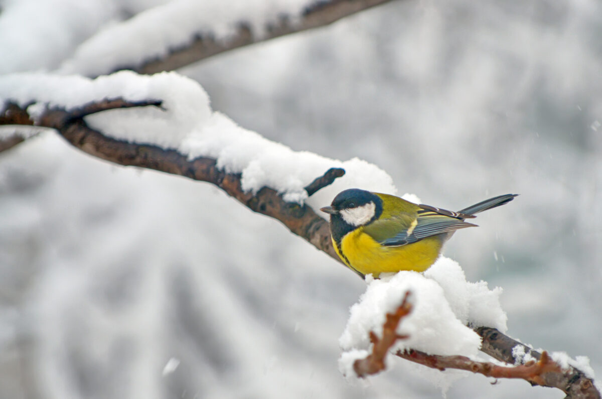
[[[264,42],[291,33],[323,27],[346,16],[384,4],[391,0],[317,0],[308,5],[297,19],[282,15],[276,24],[265,27],[261,36],[253,36],[250,27],[241,21],[237,31],[227,40],[218,40],[212,35],[198,35],[190,45],[172,49],[165,57],[148,60],[144,64],[131,68],[141,74],[155,74],[162,71],[173,71],[188,64],[211,57],[212,55],[237,49],[253,43]],[[123,69],[118,68],[115,71]]]

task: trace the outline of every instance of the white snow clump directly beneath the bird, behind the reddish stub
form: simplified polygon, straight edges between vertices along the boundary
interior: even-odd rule
[[[467,324],[507,329],[506,313],[499,303],[501,289],[489,290],[483,281],[467,282],[458,262],[446,257],[439,257],[424,274],[401,271],[380,280],[370,276],[367,282],[366,292],[352,306],[339,339],[343,350],[339,368],[343,372],[352,370],[355,359],[365,357],[364,351],[370,350],[370,331],[382,336],[386,313],[394,312],[406,291],[412,293],[415,306],[397,332],[409,338],[398,340],[391,348],[393,353],[411,348],[429,354],[474,357],[481,340]]]

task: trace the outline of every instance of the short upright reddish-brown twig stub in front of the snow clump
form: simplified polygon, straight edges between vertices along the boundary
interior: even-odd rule
[[[353,362],[353,370],[358,377],[376,374],[385,369],[385,357],[389,349],[393,347],[398,339],[407,339],[406,335],[397,334],[397,326],[402,319],[412,312],[412,304],[409,301],[410,292],[406,291],[402,304],[397,307],[394,313],[387,313],[385,324],[382,326],[382,338],[370,331],[370,342],[372,342],[372,353],[365,359],[358,359]]]

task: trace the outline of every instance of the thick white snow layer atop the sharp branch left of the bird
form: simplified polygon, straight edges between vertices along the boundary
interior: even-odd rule
[[[346,170],[346,175],[312,196],[310,204],[329,204],[338,192],[350,187],[396,192],[386,172],[363,160],[341,162],[293,151],[239,127],[227,116],[211,110],[205,90],[196,81],[176,72],[147,76],[121,71],[96,79],[41,73],[0,77],[0,102],[25,106],[37,101],[28,107],[34,119],[46,107],[69,110],[87,102],[119,97],[126,101],[163,102],[161,108],[124,108],[87,116],[91,127],[115,139],[178,149],[189,159],[214,157],[219,168],[242,174],[244,190],[256,192],[269,186],[283,193],[285,200],[302,203],[307,198],[303,187],[327,169],[339,167]]]

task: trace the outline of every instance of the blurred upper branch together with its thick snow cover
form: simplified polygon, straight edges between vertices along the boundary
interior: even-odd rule
[[[173,71],[242,46],[323,27],[389,1],[245,1],[216,6],[179,0],[99,31],[64,61],[60,71],[90,77],[122,69],[143,74]]]

